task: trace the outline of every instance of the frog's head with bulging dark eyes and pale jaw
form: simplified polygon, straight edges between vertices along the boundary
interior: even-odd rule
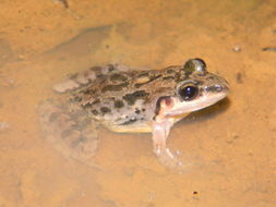
[[[164,114],[177,115],[212,106],[225,98],[229,92],[227,81],[206,70],[201,59],[185,62],[183,78],[178,82],[173,97],[163,101]]]

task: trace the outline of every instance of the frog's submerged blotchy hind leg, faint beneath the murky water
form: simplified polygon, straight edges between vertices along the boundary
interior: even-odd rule
[[[89,163],[98,147],[96,126],[81,109],[45,101],[38,106],[45,138],[67,158]],[[94,129],[93,129],[94,126]]]

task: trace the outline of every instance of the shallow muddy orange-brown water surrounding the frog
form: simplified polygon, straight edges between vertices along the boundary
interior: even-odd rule
[[[0,206],[276,205],[274,1],[2,1]],[[272,48],[263,50],[263,48]],[[188,117],[161,166],[149,134],[100,129],[91,167],[44,139],[37,105],[70,73],[119,62],[154,69],[200,57],[231,85],[228,99]]]

